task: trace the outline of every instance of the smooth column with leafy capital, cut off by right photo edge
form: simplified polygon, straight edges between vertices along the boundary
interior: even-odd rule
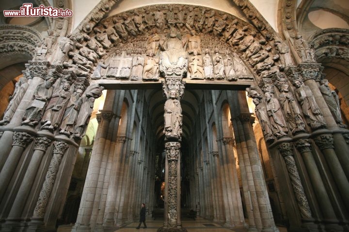
[[[349,208],[349,181],[334,151],[333,136],[331,134],[322,134],[315,137],[314,141],[325,156],[343,201]]]

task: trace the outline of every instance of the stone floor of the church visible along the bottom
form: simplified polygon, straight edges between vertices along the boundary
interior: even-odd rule
[[[182,223],[183,227],[186,228],[188,232],[247,232],[247,229],[230,230],[217,223],[202,218],[197,218],[196,220],[183,220]],[[141,229],[136,230],[135,228],[138,226],[138,223],[133,222],[115,232],[156,232],[158,228],[162,226],[162,220],[147,220],[146,225],[147,229],[143,229],[142,224]],[[71,227],[72,225],[60,226],[57,232],[70,232]],[[280,232],[287,232],[284,227],[278,228]]]

